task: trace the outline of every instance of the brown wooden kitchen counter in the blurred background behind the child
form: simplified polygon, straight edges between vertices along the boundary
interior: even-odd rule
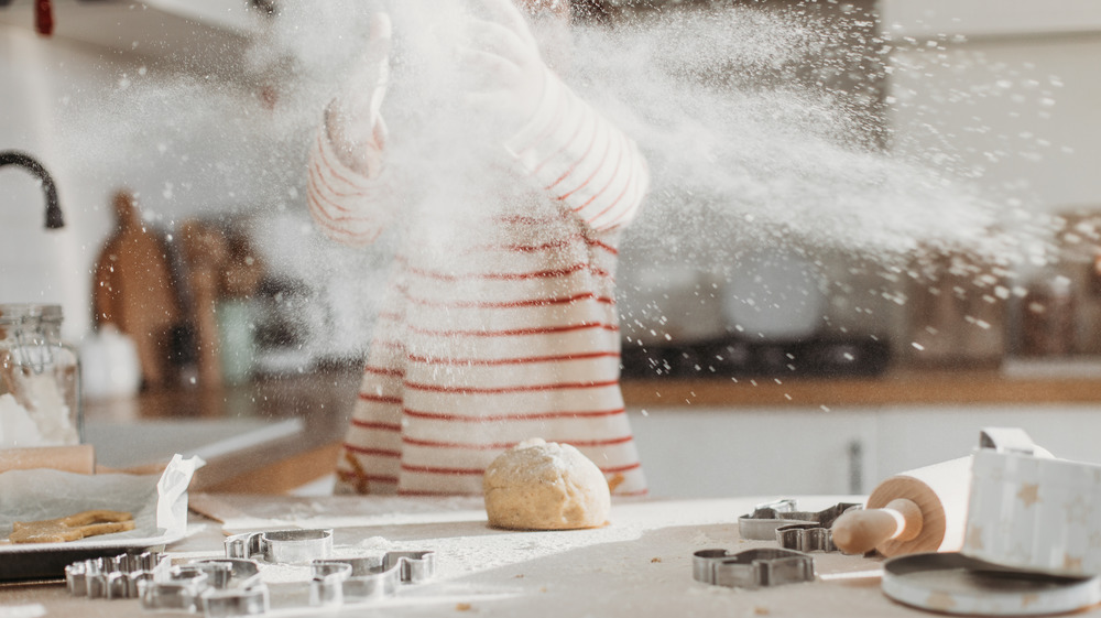
[[[358,382],[358,370],[339,368],[222,389],[144,392],[131,399],[88,402],[86,418],[105,423],[196,424],[301,420],[302,429],[293,435],[207,458],[208,465],[193,483],[195,490],[203,491],[280,494],[333,471]],[[633,410],[693,406],[731,413],[762,408],[1101,403],[1101,377],[1083,371],[1044,375],[1029,370],[1009,376],[995,369],[904,369],[848,379],[624,380],[623,394]],[[171,454],[165,453],[164,459]]]

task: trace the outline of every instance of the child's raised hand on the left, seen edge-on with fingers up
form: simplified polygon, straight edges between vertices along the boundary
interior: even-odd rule
[[[358,68],[326,118],[329,141],[337,153],[352,169],[369,175],[378,173],[378,150],[385,138],[379,110],[390,78],[392,30],[390,15],[375,13]]]

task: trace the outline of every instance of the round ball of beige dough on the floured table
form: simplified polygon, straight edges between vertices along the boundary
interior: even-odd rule
[[[482,479],[490,525],[512,530],[574,530],[608,523],[608,481],[568,444],[542,438],[502,453]]]

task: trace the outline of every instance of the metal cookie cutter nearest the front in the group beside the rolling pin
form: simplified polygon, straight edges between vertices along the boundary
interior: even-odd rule
[[[700,550],[693,554],[693,578],[729,588],[762,588],[813,582],[815,560],[803,552],[759,547],[737,554]]]

